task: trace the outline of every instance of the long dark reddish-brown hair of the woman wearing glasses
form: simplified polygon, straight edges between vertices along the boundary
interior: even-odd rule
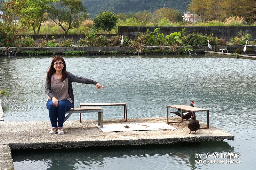
[[[47,75],[46,75],[47,83],[51,82],[52,74],[54,74],[56,72],[53,64],[58,60],[61,60],[64,64],[63,69],[62,69],[62,77],[61,77],[60,81],[64,81],[68,77],[68,72],[66,71],[66,63],[65,63],[64,58],[62,56],[55,56],[52,59],[50,69],[47,71]]]

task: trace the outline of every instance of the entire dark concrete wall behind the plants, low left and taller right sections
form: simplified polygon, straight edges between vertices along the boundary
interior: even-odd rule
[[[117,35],[124,35],[132,40],[137,39],[138,33],[141,32],[146,34],[147,29],[149,29],[150,32],[154,32],[156,28],[160,28],[160,33],[164,33],[164,35],[169,35],[173,32],[181,31],[183,28],[187,28],[186,32],[187,34],[191,34],[193,32],[197,33],[200,32],[202,35],[209,35],[213,34],[213,36],[218,38],[226,38],[227,41],[229,41],[232,37],[235,37],[238,35],[240,31],[244,31],[246,34],[251,34],[252,37],[250,40],[256,39],[256,27],[255,26],[244,26],[244,27],[230,27],[230,26],[202,26],[202,27],[191,27],[191,26],[180,26],[180,27],[133,27],[133,26],[119,26]],[[107,38],[111,38],[112,36],[115,36],[116,34],[97,34],[104,35]],[[20,36],[27,36],[27,35],[20,35]],[[73,39],[74,41],[78,41],[79,39],[84,39],[86,35],[84,34],[67,34],[67,35],[30,35],[32,38],[35,38],[36,40],[39,40],[40,38],[46,38],[49,40],[52,40],[52,36],[54,36],[54,39]]]

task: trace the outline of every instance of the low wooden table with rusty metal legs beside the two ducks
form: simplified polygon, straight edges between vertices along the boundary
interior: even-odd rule
[[[181,121],[177,122],[169,122],[169,107],[174,108],[174,109],[180,109],[181,110]],[[202,109],[198,107],[192,107],[192,106],[186,106],[186,105],[168,105],[167,106],[167,123],[180,123],[183,122],[183,110],[189,111],[189,112],[204,112],[207,111],[207,128],[200,128],[200,129],[208,129],[209,128],[209,110],[208,109]]]

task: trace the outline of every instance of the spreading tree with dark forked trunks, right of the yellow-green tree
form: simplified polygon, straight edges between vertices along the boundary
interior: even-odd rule
[[[52,3],[49,8],[50,18],[68,34],[71,28],[79,26],[77,12],[86,12],[81,0],[60,0]]]

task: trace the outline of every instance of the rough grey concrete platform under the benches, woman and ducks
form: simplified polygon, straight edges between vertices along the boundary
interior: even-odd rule
[[[169,120],[178,121],[180,117],[170,117]],[[128,122],[124,119],[106,119],[103,127],[106,124],[146,122],[166,122],[166,117],[134,118],[128,119]],[[206,123],[199,122],[201,127],[206,127]],[[199,129],[196,134],[188,134],[188,121],[170,124],[176,130],[122,132],[102,132],[95,126],[97,124],[97,120],[83,120],[82,123],[79,120],[66,121],[63,126],[65,134],[52,135],[49,134],[50,121],[0,121],[0,144],[10,146],[11,150],[22,150],[234,140],[234,135],[211,125],[209,129]]]

